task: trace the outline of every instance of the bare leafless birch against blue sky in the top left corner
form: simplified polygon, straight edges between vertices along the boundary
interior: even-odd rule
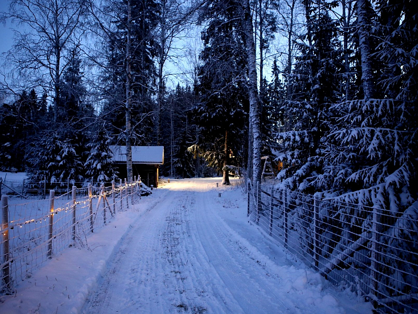
[[[12,82],[9,90],[41,87],[53,93],[54,121],[60,101],[60,81],[82,45],[84,0],[11,0],[0,21],[9,20],[14,44],[7,53]]]

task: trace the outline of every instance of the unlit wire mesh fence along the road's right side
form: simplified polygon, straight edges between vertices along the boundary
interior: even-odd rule
[[[418,203],[405,212],[248,182],[249,218],[379,313],[418,313]]]

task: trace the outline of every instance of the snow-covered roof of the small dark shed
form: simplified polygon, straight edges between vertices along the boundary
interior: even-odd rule
[[[111,145],[114,162],[126,162],[126,146]],[[132,146],[132,163],[163,164],[164,146]]]

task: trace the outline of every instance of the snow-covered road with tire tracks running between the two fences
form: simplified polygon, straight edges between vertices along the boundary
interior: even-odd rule
[[[132,224],[82,313],[367,313],[240,224],[241,191],[215,182],[160,189],[161,201]]]

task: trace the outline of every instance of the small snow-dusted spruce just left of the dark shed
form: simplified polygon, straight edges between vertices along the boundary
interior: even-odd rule
[[[112,161],[111,145],[112,138],[107,135],[104,127],[100,128],[94,135],[91,143],[87,145],[90,149],[87,161],[84,163],[87,178],[93,178],[94,182],[109,182],[117,178]]]

